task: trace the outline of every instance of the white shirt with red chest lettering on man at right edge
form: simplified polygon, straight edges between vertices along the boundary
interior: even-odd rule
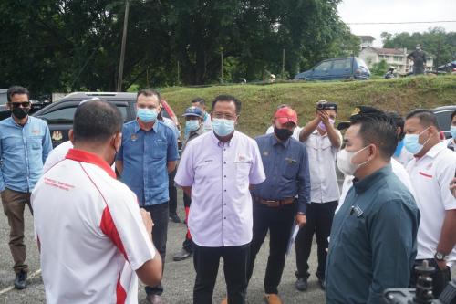
[[[421,214],[417,259],[434,257],[445,211],[456,209],[456,198],[449,189],[455,171],[456,152],[448,149],[446,142],[436,144],[423,157],[415,158],[407,165]],[[449,264],[454,261],[456,249],[453,248]]]

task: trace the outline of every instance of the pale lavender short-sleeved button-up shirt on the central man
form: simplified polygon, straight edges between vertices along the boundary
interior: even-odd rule
[[[256,142],[234,131],[220,142],[213,131],[187,143],[174,181],[192,187],[189,230],[198,246],[241,246],[252,241],[253,208],[249,184],[263,183]]]

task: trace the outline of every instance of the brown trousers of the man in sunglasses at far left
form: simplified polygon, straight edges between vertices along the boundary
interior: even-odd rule
[[[17,192],[8,188],[2,191],[2,204],[8,224],[9,232],[9,249],[15,266],[13,269],[16,273],[24,270],[28,271],[26,262],[26,244],[24,243],[24,209],[26,204],[33,215],[30,204],[30,193]]]

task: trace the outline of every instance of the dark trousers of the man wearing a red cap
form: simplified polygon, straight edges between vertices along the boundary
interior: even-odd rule
[[[295,204],[268,207],[254,203],[254,236],[250,248],[247,281],[252,278],[254,262],[269,230],[269,257],[264,275],[264,292],[277,294],[285,267],[286,248],[295,219]]]

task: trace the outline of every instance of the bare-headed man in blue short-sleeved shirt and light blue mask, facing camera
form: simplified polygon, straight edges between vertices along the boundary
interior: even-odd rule
[[[174,131],[157,120],[160,111],[158,91],[140,90],[136,108],[137,119],[123,126],[122,146],[116,167],[121,181],[136,194],[140,206],[150,212],[154,222],[153,244],[164,262],[170,199],[168,173],[174,171],[179,159],[177,140]],[[150,303],[162,303],[162,292],[161,284],[147,286],[147,300]]]

